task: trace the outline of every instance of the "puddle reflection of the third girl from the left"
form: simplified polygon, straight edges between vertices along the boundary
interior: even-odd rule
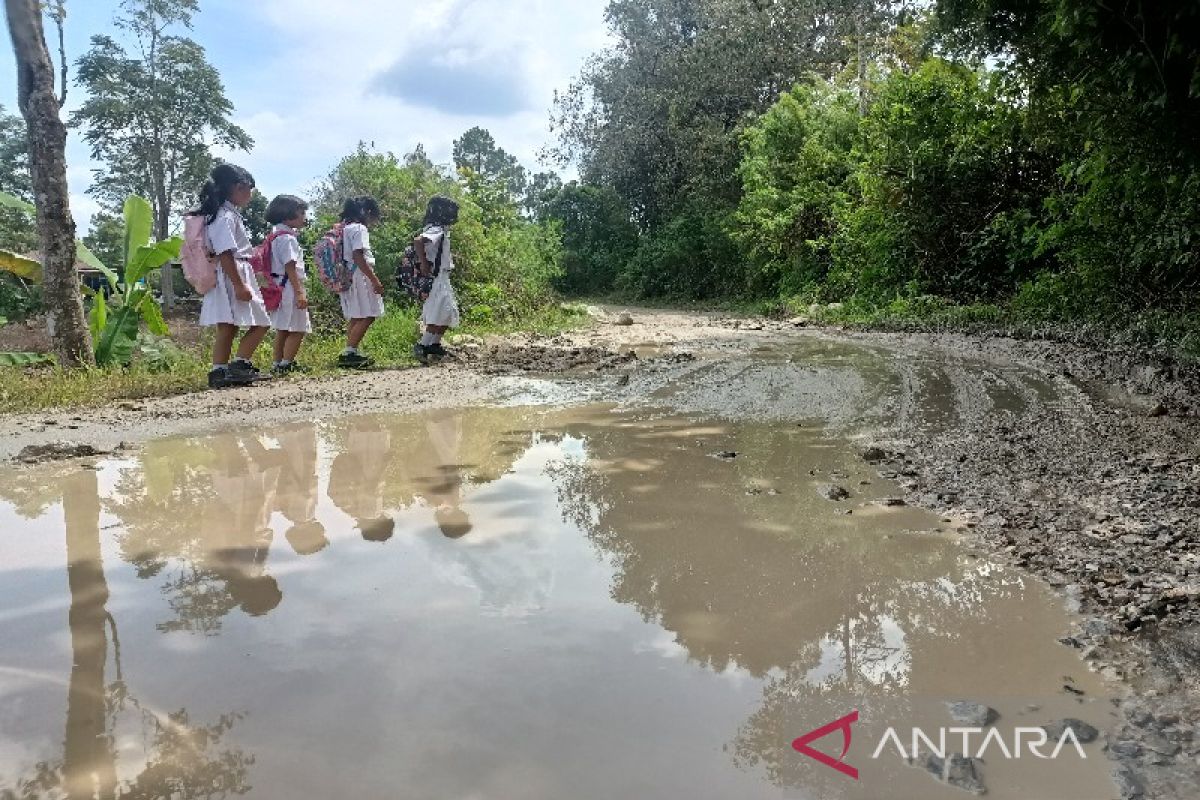
[[[386,542],[396,522],[384,512],[383,482],[391,457],[391,433],[378,421],[350,422],[346,447],[329,473],[329,499],[354,518],[368,542]]]

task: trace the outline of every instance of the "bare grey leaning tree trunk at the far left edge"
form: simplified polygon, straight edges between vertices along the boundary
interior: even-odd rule
[[[67,128],[54,94],[54,65],[46,48],[38,0],[5,0],[17,58],[17,102],[29,131],[37,233],[42,242],[47,324],[59,363],[95,363],[76,273],[76,227],[67,191]]]

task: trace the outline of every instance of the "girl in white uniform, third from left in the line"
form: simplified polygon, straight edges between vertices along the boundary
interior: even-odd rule
[[[338,366],[365,369],[374,361],[359,353],[362,337],[383,317],[383,283],[374,272],[374,253],[371,252],[370,228],[379,222],[379,204],[371,197],[352,197],[342,209],[343,258],[354,267],[350,288],[343,291],[342,314],[346,317],[346,350],[337,360]]]

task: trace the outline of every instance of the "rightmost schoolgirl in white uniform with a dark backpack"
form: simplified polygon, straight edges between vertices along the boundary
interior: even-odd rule
[[[426,276],[437,276],[421,309],[425,333],[421,341],[413,345],[413,355],[421,363],[428,363],[431,357],[444,357],[446,351],[442,347],[442,337],[448,330],[461,324],[458,299],[450,284],[450,273],[454,272],[450,225],[456,222],[458,222],[458,204],[448,197],[436,197],[430,200],[425,210],[425,230],[413,240],[416,257],[421,261],[421,272]]]

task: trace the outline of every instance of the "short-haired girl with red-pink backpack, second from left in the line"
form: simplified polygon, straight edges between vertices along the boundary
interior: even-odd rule
[[[298,239],[308,225],[308,204],[292,194],[281,194],[266,206],[266,221],[275,225],[271,234],[271,276],[283,285],[280,307],[271,312],[275,329],[275,372],[305,372],[296,363],[304,337],[312,333],[308,317],[308,273]]]

